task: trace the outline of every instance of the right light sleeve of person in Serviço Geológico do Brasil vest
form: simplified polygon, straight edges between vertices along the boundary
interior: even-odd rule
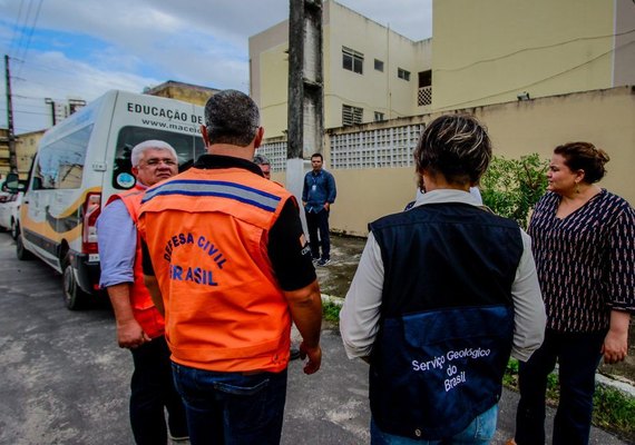
[[[516,270],[516,279],[511,285],[511,298],[514,299],[511,356],[527,362],[543,344],[547,315],[531,254],[531,238],[524,230],[520,230],[520,235],[524,246],[522,256]]]

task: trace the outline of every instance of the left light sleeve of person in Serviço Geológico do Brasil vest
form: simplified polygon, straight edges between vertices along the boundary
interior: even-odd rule
[[[382,288],[381,250],[370,233],[340,312],[340,333],[349,358],[367,357],[372,350],[379,330]]]

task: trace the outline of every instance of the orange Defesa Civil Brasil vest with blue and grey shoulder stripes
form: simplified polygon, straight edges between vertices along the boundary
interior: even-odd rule
[[[139,231],[174,362],[215,372],[286,368],[291,316],[267,239],[287,199],[243,168],[190,168],[146,191]]]

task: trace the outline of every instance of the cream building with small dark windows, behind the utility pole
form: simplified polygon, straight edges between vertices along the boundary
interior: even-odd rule
[[[324,128],[430,111],[431,41],[323,2]],[[266,137],[287,127],[289,20],[250,38],[250,90]]]

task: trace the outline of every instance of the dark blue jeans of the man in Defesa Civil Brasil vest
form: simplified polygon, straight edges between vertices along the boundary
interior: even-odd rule
[[[282,373],[217,373],[173,363],[192,445],[279,444],[286,400]]]

